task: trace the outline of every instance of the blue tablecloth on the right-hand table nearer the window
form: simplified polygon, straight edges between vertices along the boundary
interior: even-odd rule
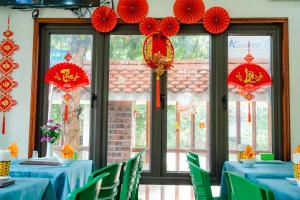
[[[245,167],[243,164],[235,161],[226,161],[223,166],[223,171],[236,173],[245,177],[253,182],[256,179],[265,178],[287,178],[294,177],[293,165],[290,162],[282,163],[257,163],[252,167]],[[226,182],[222,176],[221,178],[221,196],[227,197]]]

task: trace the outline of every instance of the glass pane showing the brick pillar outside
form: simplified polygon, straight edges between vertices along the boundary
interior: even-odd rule
[[[110,37],[107,162],[124,162],[146,149],[150,160],[151,71],[143,62],[139,35]]]

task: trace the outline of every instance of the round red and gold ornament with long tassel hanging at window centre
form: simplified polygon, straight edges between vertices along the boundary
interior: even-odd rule
[[[174,48],[168,37],[157,32],[144,41],[143,55],[147,66],[156,72],[156,108],[160,108],[160,76],[172,67]]]

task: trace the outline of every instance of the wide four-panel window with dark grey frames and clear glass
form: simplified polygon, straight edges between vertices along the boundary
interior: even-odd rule
[[[210,35],[200,24],[182,25],[171,37],[174,66],[161,77],[162,107],[156,109],[155,74],[144,65],[145,37],[136,25],[118,24],[108,34],[88,23],[42,25],[35,148],[44,148],[38,127],[49,118],[61,120],[62,113],[61,92],[45,85],[43,74],[70,50],[91,84],[73,94],[74,111],[80,112],[70,124],[77,129],[75,136],[69,128],[66,138],[72,137],[80,158],[93,159],[97,168],[146,149],[143,183],[186,184],[190,177],[184,153],[191,150],[200,154],[201,166],[216,183],[223,162],[235,159],[239,143],[282,159],[286,119],[281,97],[288,80],[281,76],[281,31],[276,23],[232,23],[223,34]],[[254,62],[273,78],[271,86],[254,93],[252,102],[226,82],[228,73],[244,62],[248,42]]]

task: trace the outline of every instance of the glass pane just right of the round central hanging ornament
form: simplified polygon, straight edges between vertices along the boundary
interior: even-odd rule
[[[187,150],[209,170],[209,36],[175,36],[168,71],[167,170],[188,171]]]

